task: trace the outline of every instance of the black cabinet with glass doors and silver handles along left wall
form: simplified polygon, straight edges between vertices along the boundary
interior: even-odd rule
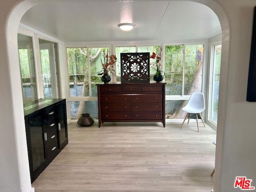
[[[66,100],[39,100],[25,109],[28,159],[33,182],[68,144]]]

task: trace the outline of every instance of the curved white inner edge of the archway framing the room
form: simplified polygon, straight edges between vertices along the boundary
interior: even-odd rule
[[[219,100],[219,112],[218,112],[218,131],[217,131],[217,148],[216,148],[216,176],[214,188],[216,191],[219,190],[220,185],[220,162],[221,162],[221,152],[222,152],[222,134],[224,131],[225,124],[225,114],[226,114],[226,104],[227,99],[227,82],[226,76],[228,74],[228,52],[229,52],[229,25],[226,14],[224,13],[222,7],[216,3],[214,0],[191,0],[193,2],[202,3],[210,7],[219,17],[222,26],[222,66],[220,75],[220,100]],[[17,165],[18,173],[20,179],[20,186],[22,190],[28,191],[31,188],[29,168],[28,168],[28,158],[26,152],[26,133],[24,126],[24,113],[22,105],[22,92],[20,88],[20,72],[19,72],[19,62],[18,62],[18,46],[17,46],[17,32],[20,19],[23,14],[30,9],[32,6],[40,4],[44,1],[33,1],[26,0],[20,2],[16,5],[13,3],[12,11],[9,14],[8,20],[6,21],[6,42],[7,42],[7,55],[8,55],[8,68],[9,68],[9,80],[10,80],[10,94],[12,99],[10,99],[12,104],[12,114],[13,118],[13,128],[15,134],[16,146],[13,147],[17,152]],[[61,2],[61,1],[60,1]],[[7,66],[6,66],[7,67]],[[7,97],[6,97],[7,98]],[[15,108],[15,109],[14,109]]]

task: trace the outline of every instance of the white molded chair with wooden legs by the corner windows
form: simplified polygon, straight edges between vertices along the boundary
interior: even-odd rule
[[[188,104],[182,108],[183,111],[187,112],[184,121],[181,125],[180,128],[182,128],[184,122],[186,119],[188,119],[188,123],[189,120],[192,116],[196,115],[196,124],[197,124],[197,130],[199,132],[199,126],[198,126],[198,114],[204,124],[204,120],[202,118],[201,112],[204,111],[205,109],[205,100],[204,100],[204,94],[203,93],[199,93],[199,92],[194,92],[192,93],[192,95],[190,96],[189,100],[188,100]],[[204,124],[205,127],[205,124]]]

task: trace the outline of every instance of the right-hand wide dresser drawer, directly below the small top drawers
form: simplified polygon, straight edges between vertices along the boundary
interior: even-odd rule
[[[138,94],[132,95],[133,103],[162,102],[162,94]]]

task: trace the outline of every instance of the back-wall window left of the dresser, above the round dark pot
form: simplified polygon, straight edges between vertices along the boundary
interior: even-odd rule
[[[71,119],[78,119],[82,113],[98,118],[97,83],[102,83],[99,72],[104,62],[103,51],[108,47],[67,48],[68,76],[70,87]]]

